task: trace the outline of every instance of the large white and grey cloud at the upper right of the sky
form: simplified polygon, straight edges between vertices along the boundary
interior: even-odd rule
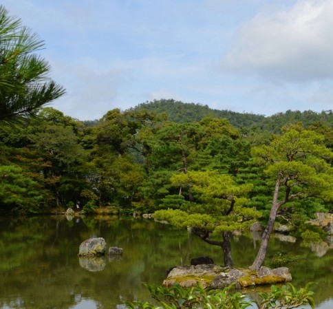
[[[332,78],[332,12],[332,0],[262,11],[239,28],[225,67],[281,81]]]

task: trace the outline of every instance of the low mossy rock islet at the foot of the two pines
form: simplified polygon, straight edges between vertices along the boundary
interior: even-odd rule
[[[178,266],[172,268],[167,279],[163,281],[164,286],[196,286],[201,282],[204,287],[224,288],[232,283],[237,287],[272,285],[291,281],[289,269],[280,267],[270,269],[261,267],[258,272],[247,269],[238,270],[217,265]]]

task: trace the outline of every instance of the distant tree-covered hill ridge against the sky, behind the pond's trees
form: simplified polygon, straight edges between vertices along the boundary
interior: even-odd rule
[[[133,107],[129,110],[138,111],[147,109],[156,113],[165,113],[172,122],[195,122],[206,116],[228,119],[231,125],[237,128],[252,128],[260,131],[279,133],[281,127],[302,122],[307,127],[314,122],[322,122],[329,127],[333,126],[332,110],[328,111],[291,111],[279,112],[272,116],[257,115],[252,113],[238,113],[230,110],[211,109],[208,105],[199,103],[183,103],[173,99],[153,100]]]

